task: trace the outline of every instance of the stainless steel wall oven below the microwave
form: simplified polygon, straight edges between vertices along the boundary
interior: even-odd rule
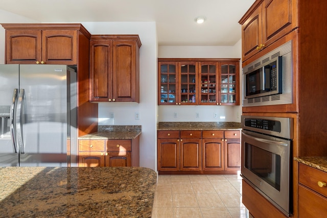
[[[242,116],[241,176],[284,214],[292,213],[293,120]]]

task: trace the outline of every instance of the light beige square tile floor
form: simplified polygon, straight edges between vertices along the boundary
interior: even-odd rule
[[[158,175],[152,218],[251,217],[239,175]]]

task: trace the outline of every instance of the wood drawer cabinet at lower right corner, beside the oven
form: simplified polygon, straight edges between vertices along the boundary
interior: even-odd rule
[[[325,217],[327,214],[327,173],[299,163],[299,217]]]

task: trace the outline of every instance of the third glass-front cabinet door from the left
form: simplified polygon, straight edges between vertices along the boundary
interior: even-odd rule
[[[200,105],[216,105],[218,104],[217,91],[217,75],[218,62],[200,62],[199,64],[199,104]],[[218,83],[219,84],[219,83]]]

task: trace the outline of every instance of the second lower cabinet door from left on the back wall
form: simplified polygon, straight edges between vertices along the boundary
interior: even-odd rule
[[[180,141],[180,170],[201,171],[201,139],[183,139]]]

